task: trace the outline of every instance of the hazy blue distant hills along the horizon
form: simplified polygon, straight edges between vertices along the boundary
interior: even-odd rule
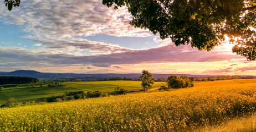
[[[40,73],[34,70],[16,70],[14,72],[0,72],[0,75],[9,75],[9,76],[28,76],[33,78],[42,78],[42,79],[59,79],[59,78],[80,78],[80,79],[105,79],[105,78],[133,78],[137,79],[141,74],[75,74],[75,73]],[[186,75],[188,77],[197,76],[197,77],[207,77],[209,75],[191,75],[191,74],[153,74],[155,78],[168,78],[170,75]]]

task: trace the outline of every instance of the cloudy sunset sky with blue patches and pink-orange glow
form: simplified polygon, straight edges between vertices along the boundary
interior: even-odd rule
[[[11,12],[2,3],[0,72],[256,75],[228,38],[209,52],[176,47],[131,19],[100,0],[23,0]]]

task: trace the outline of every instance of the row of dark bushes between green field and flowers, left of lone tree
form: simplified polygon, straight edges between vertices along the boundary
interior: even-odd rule
[[[64,95],[60,95],[60,96],[37,98],[37,100],[35,100],[35,102],[36,103],[39,103],[39,102],[62,102],[62,101],[68,101],[68,100],[79,100],[81,98],[85,99],[85,98],[96,98],[96,97],[106,97],[106,96],[108,96],[108,95],[101,91],[95,91],[95,92],[70,91],[70,92],[66,92]]]

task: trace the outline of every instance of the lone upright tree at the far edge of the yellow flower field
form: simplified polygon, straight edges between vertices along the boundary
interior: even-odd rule
[[[142,80],[141,86],[143,87],[143,91],[147,91],[151,89],[152,85],[156,78],[152,76],[152,74],[147,70],[142,70],[142,74],[140,75],[140,79]]]

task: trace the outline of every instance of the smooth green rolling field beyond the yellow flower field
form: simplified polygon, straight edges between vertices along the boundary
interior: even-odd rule
[[[141,90],[142,87],[140,81],[82,81],[82,82],[65,82],[61,83],[65,86],[61,87],[48,87],[48,85],[37,85],[32,87],[28,86],[18,86],[4,88],[0,91],[0,105],[4,104],[7,98],[14,97],[18,102],[22,101],[35,101],[35,99],[40,97],[58,96],[63,95],[66,91],[101,91],[101,92],[113,92],[117,86],[125,88],[130,91]],[[152,90],[157,89],[161,85],[166,83],[156,82],[153,85]]]

